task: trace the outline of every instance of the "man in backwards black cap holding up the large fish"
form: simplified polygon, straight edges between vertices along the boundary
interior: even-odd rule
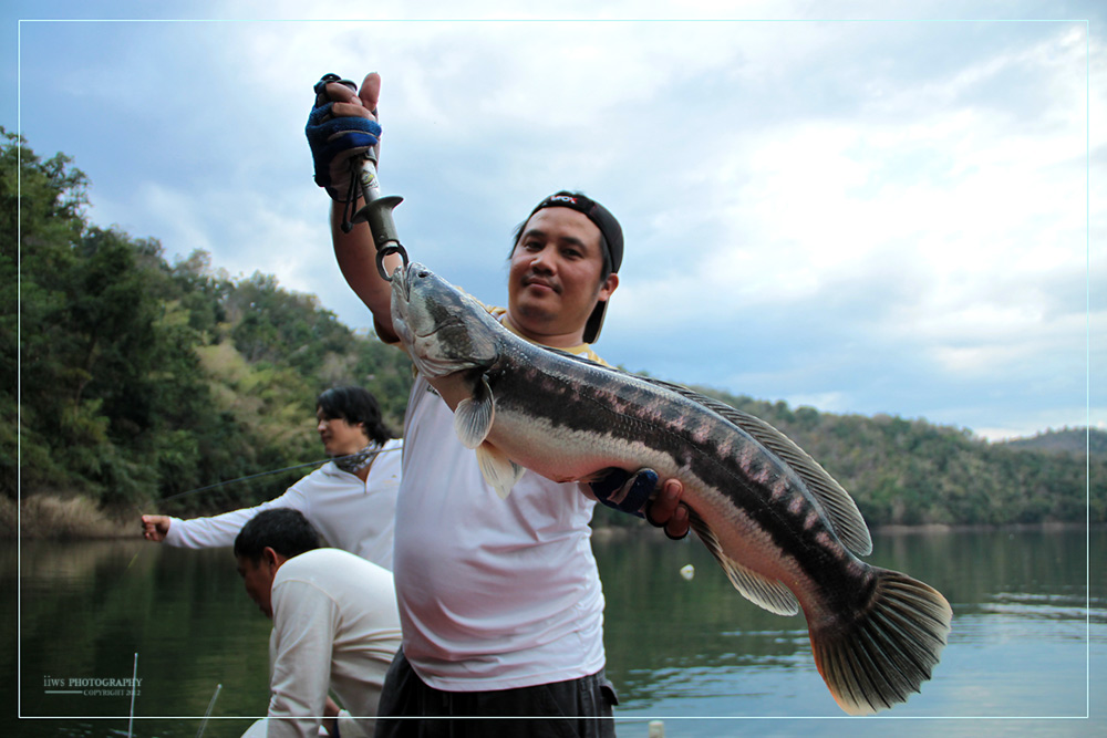
[[[373,233],[366,224],[343,228],[351,159],[377,144],[380,89],[376,74],[360,90],[332,75],[321,80],[308,138],[315,180],[334,200],[343,277],[372,311],[381,339],[399,343]],[[508,306],[489,312],[531,343],[598,360],[589,344],[619,285],[622,250],[622,230],[603,206],[578,193],[552,195],[516,232]],[[385,262],[396,266],[399,259]],[[455,434],[459,399],[441,396],[420,375],[408,401],[394,555],[403,647],[376,735],[612,736],[591,495],[682,538],[689,514],[681,485],[659,485],[649,471],[612,475],[592,488],[527,474],[500,499]]]

